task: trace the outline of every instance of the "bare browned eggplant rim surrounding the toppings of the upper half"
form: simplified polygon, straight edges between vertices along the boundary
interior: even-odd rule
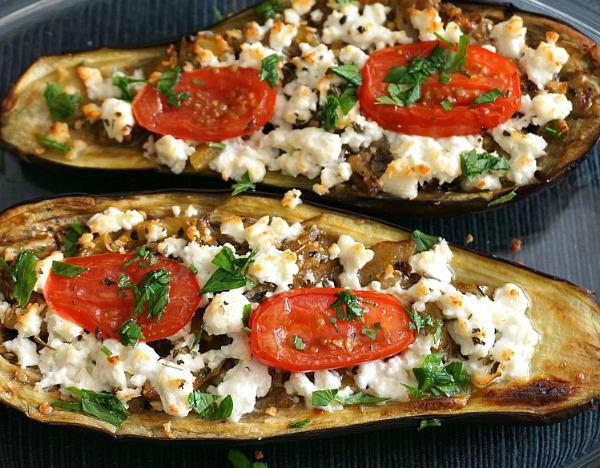
[[[383,3],[395,8],[399,15],[405,12],[408,4],[414,2],[388,0]],[[512,199],[516,201],[557,182],[585,158],[600,135],[600,72],[598,69],[600,52],[592,40],[553,19],[519,12],[514,7],[506,5],[465,3],[459,6],[462,8],[464,18],[470,18],[469,15],[483,14],[495,22],[504,21],[512,14],[518,13],[524,19],[530,45],[535,45],[542,40],[547,31],[556,31],[560,34],[559,45],[566,48],[570,55],[569,62],[559,75],[561,81],[568,83],[568,96],[574,103],[574,111],[566,120],[570,130],[561,138],[549,139],[548,154],[540,164],[543,168],[536,174],[537,180],[519,186],[516,197]],[[398,15],[397,17],[402,18]],[[232,28],[240,28],[255,19],[254,10],[248,9],[218,23],[212,31],[222,33]],[[43,98],[46,83],[60,82],[63,86],[70,85],[83,90],[82,83],[75,74],[75,68],[81,62],[86,66],[105,71],[117,66],[125,72],[137,68],[148,72],[157,68],[164,53],[165,47],[132,50],[99,49],[38,59],[22,75],[4,100],[0,132],[2,139],[28,160],[63,168],[96,171],[159,170],[167,173],[168,169],[154,160],[143,157],[143,139],[134,139],[127,145],[106,141],[106,139],[99,141],[97,135],[84,126],[79,130],[73,130],[72,136],[73,139],[83,140],[88,146],[71,160],[57,152],[40,152],[40,146],[35,139],[37,133],[45,133],[51,124]],[[206,157],[210,157],[210,154]],[[217,173],[208,169],[207,161],[200,161],[194,166],[188,164],[185,173],[219,177]],[[313,183],[314,181],[302,176],[293,178],[278,172],[269,172],[262,185],[277,191],[291,187],[305,189],[307,198],[317,200],[320,197],[311,191]],[[381,213],[443,215],[486,210],[491,200],[510,192],[513,188],[504,186],[498,190],[465,192],[459,188],[447,190],[444,187],[432,186],[420,190],[416,199],[405,200],[387,194],[371,196],[367,191],[350,186],[347,182],[332,189],[329,194],[322,196],[321,200],[338,206],[358,207]]]

